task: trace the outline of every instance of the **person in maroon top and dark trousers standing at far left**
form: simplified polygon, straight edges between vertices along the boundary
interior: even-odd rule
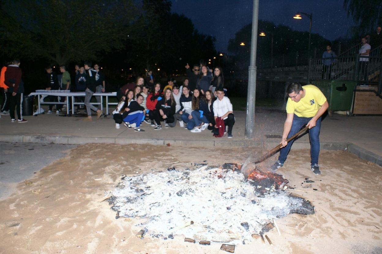
[[[17,117],[19,123],[26,123],[28,120],[23,118],[23,93],[24,83],[21,80],[20,60],[13,60],[13,64],[6,67],[4,75],[4,83],[8,86],[9,97],[9,114],[11,122],[15,122],[15,108],[17,109]]]

